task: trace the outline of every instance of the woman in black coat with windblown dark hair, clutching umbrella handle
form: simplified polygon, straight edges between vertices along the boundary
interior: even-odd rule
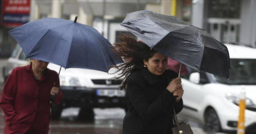
[[[183,109],[181,78],[165,69],[167,56],[130,36],[120,40],[113,51],[126,60],[116,66],[125,76],[121,89],[126,89],[128,105],[122,133],[172,133],[173,109]]]

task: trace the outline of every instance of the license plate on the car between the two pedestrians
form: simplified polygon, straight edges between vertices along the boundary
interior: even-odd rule
[[[116,90],[116,89],[98,89],[97,90],[97,96],[108,96],[108,97],[113,97],[113,96],[118,96],[118,97],[123,97],[125,96],[125,91],[122,90]]]

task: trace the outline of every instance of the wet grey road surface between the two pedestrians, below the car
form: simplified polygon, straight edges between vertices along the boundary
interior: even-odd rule
[[[59,121],[51,121],[49,134],[121,134],[125,111],[120,108],[94,109],[94,122],[78,122],[78,108],[64,109]],[[3,111],[0,109],[0,134],[4,133]]]

